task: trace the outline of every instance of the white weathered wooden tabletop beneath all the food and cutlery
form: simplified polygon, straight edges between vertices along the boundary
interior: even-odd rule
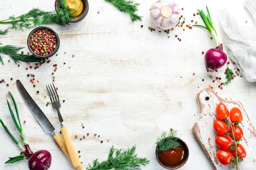
[[[141,22],[135,21],[133,24],[128,14],[120,12],[108,2],[89,0],[89,12],[82,21],[65,27],[49,26],[58,33],[61,46],[58,56],[51,57],[50,63],[45,63],[38,69],[34,69],[35,63],[22,62],[18,67],[9,56],[1,54],[4,65],[0,64],[0,79],[5,82],[0,83],[0,118],[18,138],[6,101],[11,102],[8,95],[10,91],[18,104],[22,122],[26,121],[22,125],[31,149],[46,149],[52,154],[51,170],[73,168],[54,139],[45,134],[23,102],[15,85],[17,79],[59,131],[56,111],[51,105],[46,106],[49,98],[45,85],[52,83],[55,76],[54,85],[58,87],[61,100],[65,100],[61,103],[61,113],[76,150],[81,151],[79,155],[83,169],[89,163],[92,164],[93,159],[100,162],[106,160],[112,145],[118,149],[136,145],[137,155],[150,160],[141,169],[164,170],[155,157],[155,142],[162,131],[169,131],[170,128],[176,129],[189,146],[189,159],[180,170],[213,169],[192,131],[198,117],[196,96],[200,90],[209,86],[222,98],[239,100],[252,124],[256,126],[256,84],[239,75],[230,85],[218,88],[219,83],[213,83],[214,78],[210,77],[212,74],[206,72],[204,56],[201,54],[214,47],[211,35],[202,28],[189,29],[185,25],[185,31],[176,27],[170,34],[164,31],[160,33],[157,28],[151,32],[148,26],[155,26],[150,19],[150,7],[155,1],[135,1],[140,3],[137,13],[143,18]],[[10,15],[27,13],[32,7],[54,11],[54,2],[55,0],[4,1],[0,3],[0,20],[7,19]],[[185,17],[187,24],[191,20],[200,22],[199,15],[193,16],[193,13],[197,12],[196,9],[206,10],[207,5],[220,39],[220,9],[233,12],[240,24],[253,24],[243,0],[179,0],[177,4],[184,8],[181,15]],[[248,22],[245,23],[245,20]],[[6,25],[0,25],[0,29],[5,28]],[[0,42],[3,45],[23,46],[25,48],[22,50],[28,52],[26,41],[30,31],[31,29],[10,30],[7,35],[0,36]],[[176,34],[182,41],[177,40]],[[223,42],[222,39],[221,41]],[[72,57],[72,54],[75,56]],[[56,72],[54,64],[58,67]],[[32,69],[29,68],[30,65],[33,66]],[[28,70],[25,69],[27,67]],[[234,67],[231,62],[230,68]],[[224,72],[225,67],[219,69],[213,77],[219,76],[224,82]],[[34,84],[35,87],[27,74],[34,74],[35,80],[39,81]],[[97,136],[94,137],[94,133]],[[8,157],[19,155],[20,149],[2,127],[0,134],[0,169],[27,170],[26,160],[4,164]],[[83,135],[86,136],[85,139],[80,140]]]

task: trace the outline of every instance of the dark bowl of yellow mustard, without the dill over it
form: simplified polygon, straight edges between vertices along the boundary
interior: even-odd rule
[[[55,9],[58,9],[58,1],[55,1]],[[65,7],[70,9],[73,18],[68,22],[79,22],[87,15],[89,11],[88,0],[66,0]]]

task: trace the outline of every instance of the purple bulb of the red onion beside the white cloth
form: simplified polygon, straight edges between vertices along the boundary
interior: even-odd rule
[[[216,48],[209,49],[204,55],[204,63],[207,72],[214,72],[221,68],[227,62],[227,54],[223,52],[223,46],[220,44]]]

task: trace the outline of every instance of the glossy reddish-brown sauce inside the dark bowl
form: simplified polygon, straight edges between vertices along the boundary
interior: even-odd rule
[[[159,161],[167,166],[177,166],[186,159],[186,149],[183,145],[178,148],[170,148],[165,152],[159,152]]]

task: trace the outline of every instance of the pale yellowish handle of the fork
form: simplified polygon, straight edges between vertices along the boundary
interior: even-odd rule
[[[66,144],[66,148],[67,148],[67,153],[70,157],[72,166],[76,169],[76,170],[81,170],[83,168],[83,164],[80,162],[79,157],[76,153],[74,144],[72,142],[72,139],[70,137],[70,134],[67,130],[67,127],[62,127],[61,128],[61,134],[63,136],[64,142]]]

